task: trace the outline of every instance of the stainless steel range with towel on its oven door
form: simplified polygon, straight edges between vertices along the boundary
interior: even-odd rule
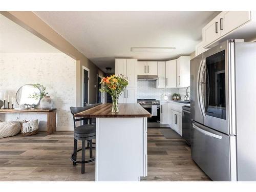
[[[138,99],[137,103],[139,103],[146,111],[153,114],[151,118],[147,118],[147,127],[160,127],[160,101],[156,99]],[[154,114],[152,110],[154,110],[154,106],[157,105],[157,112]]]

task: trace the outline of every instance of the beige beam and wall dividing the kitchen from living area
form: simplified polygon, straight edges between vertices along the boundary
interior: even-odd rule
[[[16,24],[27,29],[37,37],[48,42],[50,45],[77,60],[76,62],[76,105],[81,105],[82,90],[82,66],[90,69],[90,96],[89,102],[96,102],[96,74],[103,75],[103,72],[94,65],[86,56],[80,53],[65,38],[60,36],[49,25],[37,17],[32,11],[0,11],[1,14],[11,19]]]

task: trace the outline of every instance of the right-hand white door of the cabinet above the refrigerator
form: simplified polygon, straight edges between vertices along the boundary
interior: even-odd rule
[[[221,36],[240,27],[251,19],[250,11],[222,11],[220,13]]]

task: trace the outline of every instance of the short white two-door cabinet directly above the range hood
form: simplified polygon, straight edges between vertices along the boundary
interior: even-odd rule
[[[157,75],[157,61],[138,61],[138,75]]]

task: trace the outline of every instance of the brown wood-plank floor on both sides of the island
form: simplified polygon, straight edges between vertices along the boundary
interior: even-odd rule
[[[158,129],[148,129],[147,147],[148,176],[141,181],[210,180],[191,159],[184,140],[166,139]],[[94,181],[95,163],[87,163],[81,174],[81,165],[70,160],[72,150],[73,132],[2,138],[0,181]]]

